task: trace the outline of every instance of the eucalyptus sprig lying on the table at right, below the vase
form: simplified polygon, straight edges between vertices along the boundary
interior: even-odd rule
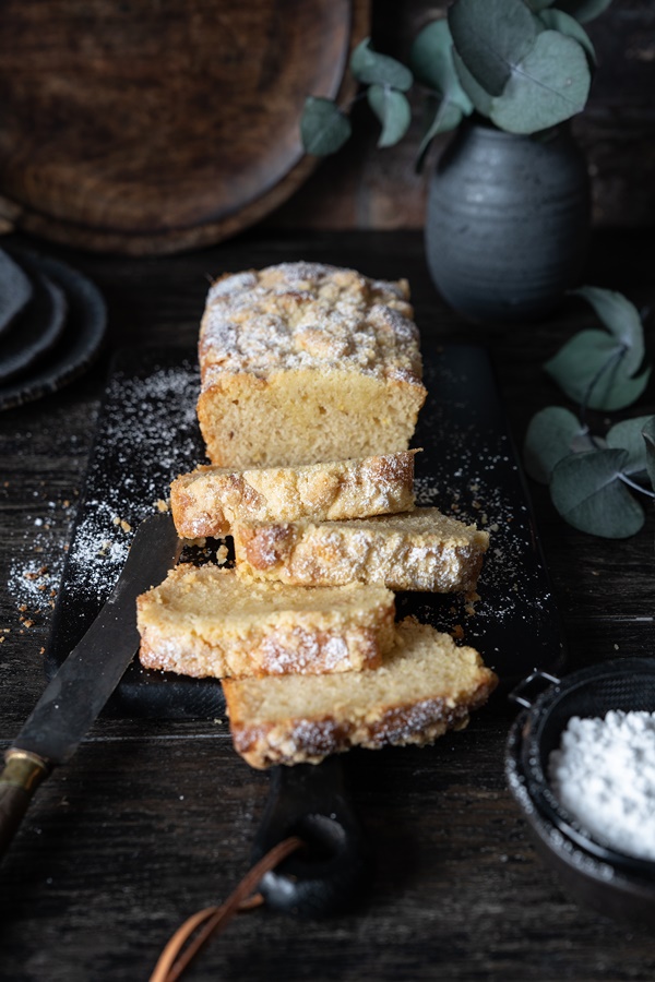
[[[643,527],[638,495],[655,500],[655,416],[623,419],[604,439],[591,432],[587,416],[591,409],[623,409],[645,391],[651,368],[643,364],[643,323],[620,294],[598,287],[574,292],[591,303],[605,330],[581,331],[546,363],[579,416],[558,406],[537,412],[525,438],[525,463],[535,480],[548,483],[551,501],[569,525],[621,539]],[[653,490],[631,477],[642,471]]]

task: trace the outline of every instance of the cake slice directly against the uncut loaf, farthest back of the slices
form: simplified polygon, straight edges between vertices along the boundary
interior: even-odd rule
[[[221,536],[242,522],[357,518],[414,506],[416,451],[295,467],[201,466],[170,486],[178,534]]]

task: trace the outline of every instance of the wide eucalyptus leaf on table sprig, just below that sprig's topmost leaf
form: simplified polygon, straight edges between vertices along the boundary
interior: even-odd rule
[[[603,331],[581,331],[544,368],[569,398],[592,409],[624,409],[645,390],[651,369],[631,378],[626,349]]]

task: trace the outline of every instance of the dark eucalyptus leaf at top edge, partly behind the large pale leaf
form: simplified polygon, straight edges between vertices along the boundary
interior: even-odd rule
[[[523,0],[455,0],[448,23],[462,61],[489,95],[500,95],[532,50],[540,25]]]

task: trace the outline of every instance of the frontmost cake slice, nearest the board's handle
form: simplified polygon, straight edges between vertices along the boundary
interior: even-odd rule
[[[432,743],[462,729],[497,676],[474,648],[406,618],[378,669],[226,680],[236,750],[252,766],[318,764],[352,746]]]

